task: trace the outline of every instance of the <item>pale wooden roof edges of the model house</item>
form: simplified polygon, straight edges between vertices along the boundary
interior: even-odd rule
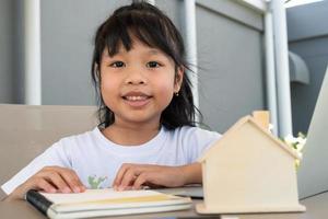
[[[210,147],[209,150],[206,151],[206,153],[201,158],[199,158],[198,162],[203,162],[210,154],[212,154],[212,152],[213,152],[212,150],[214,150],[213,148],[215,147],[215,145],[220,145],[220,142],[224,141],[224,139],[229,138],[231,136],[231,134],[233,134],[237,129],[242,128],[247,123],[250,124],[250,125],[253,125],[254,127],[256,127],[256,129],[258,131],[262,132],[262,135],[268,136],[269,139],[271,139],[272,141],[276,142],[277,147],[280,147],[288,154],[290,154],[294,159],[301,160],[301,157],[292,148],[290,148],[289,146],[286,146],[279,138],[274,137],[269,130],[262,128],[251,116],[245,116],[245,117],[242,117],[235,125],[233,125],[222,136],[222,138],[220,140],[218,140],[216,142],[214,142],[213,146]]]

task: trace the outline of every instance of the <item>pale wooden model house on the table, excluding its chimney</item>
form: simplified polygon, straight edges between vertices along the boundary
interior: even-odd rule
[[[251,116],[241,118],[199,159],[199,214],[305,211],[298,204],[300,157]]]

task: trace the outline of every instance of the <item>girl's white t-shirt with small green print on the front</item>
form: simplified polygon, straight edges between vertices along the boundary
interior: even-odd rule
[[[184,165],[196,162],[221,137],[198,127],[174,130],[164,127],[140,146],[120,146],[108,140],[96,127],[81,135],[62,138],[35,158],[1,188],[10,194],[44,166],[58,165],[77,172],[89,188],[110,187],[122,163]]]

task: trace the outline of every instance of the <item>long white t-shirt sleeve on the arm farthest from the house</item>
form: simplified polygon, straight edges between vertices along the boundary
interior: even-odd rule
[[[57,165],[70,168],[71,164],[68,158],[68,148],[65,148],[63,145],[65,143],[62,140],[54,143],[50,148],[32,160],[25,168],[23,168],[12,178],[4,183],[1,186],[2,191],[7,195],[11,194],[17,186],[45,166]]]

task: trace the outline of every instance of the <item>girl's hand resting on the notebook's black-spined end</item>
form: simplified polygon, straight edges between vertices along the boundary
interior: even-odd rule
[[[60,166],[46,166],[14,189],[5,200],[23,199],[30,189],[46,193],[81,193],[85,187],[74,171]]]

